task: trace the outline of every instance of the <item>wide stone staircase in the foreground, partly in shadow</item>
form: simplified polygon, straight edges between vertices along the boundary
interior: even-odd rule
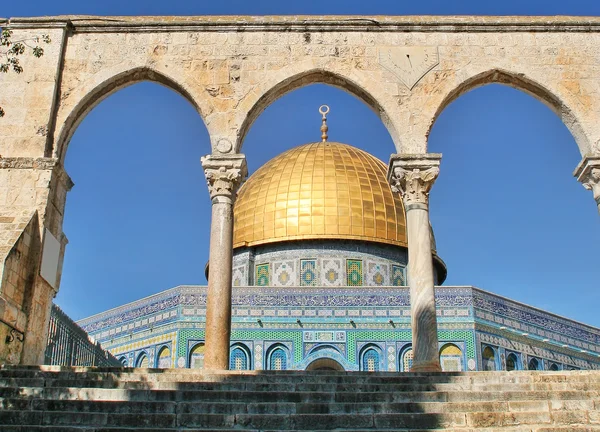
[[[0,367],[2,432],[600,431],[600,372]]]

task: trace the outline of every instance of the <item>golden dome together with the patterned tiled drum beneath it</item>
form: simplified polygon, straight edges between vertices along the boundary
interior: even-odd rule
[[[407,282],[406,217],[387,164],[347,144],[300,145],[251,175],[235,201],[233,247],[235,286]],[[434,265],[442,283],[435,252]]]

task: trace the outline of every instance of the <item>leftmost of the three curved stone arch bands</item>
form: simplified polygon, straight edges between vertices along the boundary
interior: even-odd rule
[[[208,107],[200,98],[194,97],[192,91],[185,84],[165,72],[159,72],[149,66],[140,66],[124,70],[112,70],[103,74],[103,76],[105,75],[108,75],[108,78],[102,81],[99,81],[96,76],[91,77],[76,91],[66,95],[57,121],[57,124],[62,126],[55,135],[54,147],[46,149],[47,157],[56,157],[64,163],[69,142],[86,115],[110,95],[143,81],[163,85],[183,96],[200,114],[203,124],[208,128],[204,116],[208,111]]]

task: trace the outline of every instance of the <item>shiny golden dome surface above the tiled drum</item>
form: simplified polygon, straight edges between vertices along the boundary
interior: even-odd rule
[[[271,159],[240,188],[233,247],[351,239],[406,246],[404,207],[387,166],[346,144],[305,144]]]

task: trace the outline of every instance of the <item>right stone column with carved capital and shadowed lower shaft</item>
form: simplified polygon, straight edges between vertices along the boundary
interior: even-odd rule
[[[413,372],[439,372],[433,256],[429,225],[429,190],[438,176],[442,155],[392,155],[388,180],[402,195],[408,233]]]

